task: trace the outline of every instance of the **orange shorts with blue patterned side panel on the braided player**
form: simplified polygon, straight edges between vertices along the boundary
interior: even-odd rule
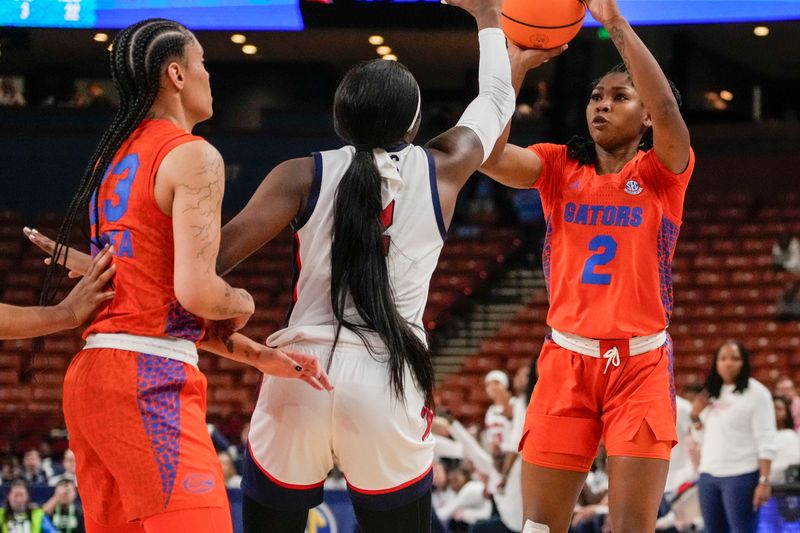
[[[85,512],[104,526],[199,507],[228,509],[192,365],[83,350],[64,379],[64,417]]]

